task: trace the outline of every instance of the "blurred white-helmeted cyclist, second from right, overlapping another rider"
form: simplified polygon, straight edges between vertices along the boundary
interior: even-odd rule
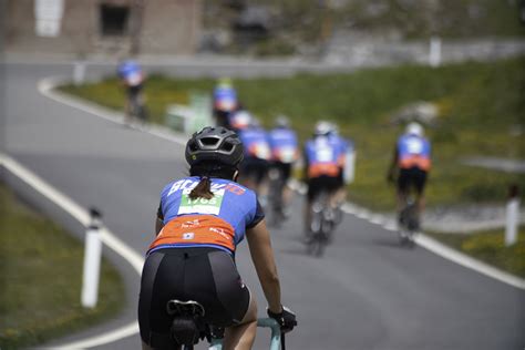
[[[318,122],[313,137],[305,144],[305,177],[308,184],[307,203],[305,208],[305,227],[309,231],[311,205],[317,195],[327,191],[330,194],[330,205],[338,206],[338,194],[344,187],[343,168],[344,151],[342,143],[333,137],[334,125],[329,122]]]

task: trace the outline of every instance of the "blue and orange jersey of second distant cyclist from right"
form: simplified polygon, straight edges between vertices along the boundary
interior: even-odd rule
[[[341,173],[341,157],[344,152],[339,142],[328,136],[318,136],[307,141],[305,154],[308,161],[308,177],[331,176]]]

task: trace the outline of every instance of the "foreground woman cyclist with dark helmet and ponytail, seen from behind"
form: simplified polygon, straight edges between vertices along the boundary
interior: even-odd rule
[[[143,349],[176,349],[169,337],[168,300],[204,307],[208,325],[226,327],[224,349],[250,349],[257,329],[255,296],[235,264],[246,236],[268,316],[290,331],[296,316],[281,306],[280,284],[257,196],[237,184],[243,159],[238,136],[224,127],[205,127],[186,144],[189,176],[161,193],[156,238],[144,264],[138,300]]]

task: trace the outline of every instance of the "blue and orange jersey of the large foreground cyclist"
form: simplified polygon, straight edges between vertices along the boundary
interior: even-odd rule
[[[168,247],[216,247],[234,253],[246,228],[264,218],[255,193],[233,181],[212,178],[214,197],[189,198],[200,182],[186,177],[169,183],[161,193],[164,227],[148,253]]]

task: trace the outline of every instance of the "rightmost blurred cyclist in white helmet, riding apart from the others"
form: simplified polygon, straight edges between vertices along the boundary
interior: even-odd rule
[[[388,172],[388,179],[397,181],[398,213],[401,213],[413,189],[419,217],[424,209],[423,194],[431,167],[431,145],[423,134],[421,124],[412,122],[406,125],[405,133],[395,144]]]

